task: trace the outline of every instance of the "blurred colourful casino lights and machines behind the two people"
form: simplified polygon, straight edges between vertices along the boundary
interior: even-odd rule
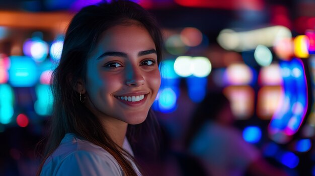
[[[50,75],[64,32],[100,0],[0,0],[0,175],[34,175],[51,113]],[[165,38],[153,109],[181,150],[207,92],[231,102],[234,126],[290,175],[315,175],[315,1],[134,0]],[[213,144],[215,145],[215,144]]]

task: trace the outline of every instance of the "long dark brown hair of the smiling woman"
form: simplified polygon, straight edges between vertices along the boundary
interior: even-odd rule
[[[78,80],[85,82],[87,58],[97,45],[102,33],[117,25],[137,24],[144,27],[155,43],[157,61],[162,59],[163,38],[151,14],[129,1],[105,1],[83,8],[70,22],[65,34],[60,63],[52,75],[53,112],[50,130],[38,169],[40,174],[45,160],[58,147],[66,133],[74,133],[101,146],[117,160],[125,175],[137,175],[125,156],[134,159],[119,147],[103,129],[98,118],[82,103],[75,91]],[[134,139],[137,131],[152,131],[156,119],[150,110],[139,125],[128,125],[127,137]],[[146,129],[141,129],[146,128]],[[150,128],[150,129],[149,129]],[[132,141],[131,141],[132,142]]]

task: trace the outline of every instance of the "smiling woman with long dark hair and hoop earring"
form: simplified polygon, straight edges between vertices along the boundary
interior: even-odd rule
[[[51,129],[38,174],[143,174],[126,135],[154,122],[161,50],[159,28],[135,3],[103,2],[74,16],[52,76]]]

